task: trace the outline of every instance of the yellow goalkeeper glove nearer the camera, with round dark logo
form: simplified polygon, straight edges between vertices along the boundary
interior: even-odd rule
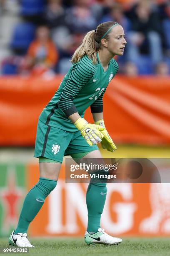
[[[77,127],[78,130],[80,130],[81,135],[83,136],[83,138],[85,138],[90,146],[100,143],[101,139],[104,136],[101,131],[104,131],[105,127],[87,123],[84,118],[77,119],[74,125]]]

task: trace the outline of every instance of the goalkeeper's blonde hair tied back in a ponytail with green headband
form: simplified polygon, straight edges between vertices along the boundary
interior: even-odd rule
[[[83,41],[82,44],[75,50],[75,53],[72,56],[71,62],[77,63],[80,59],[87,55],[89,59],[92,60],[93,64],[97,63],[97,51],[101,48],[101,38],[111,26],[115,25],[115,21],[108,21],[101,23],[97,26],[96,30],[89,31]],[[107,33],[104,38],[109,40],[109,33]]]

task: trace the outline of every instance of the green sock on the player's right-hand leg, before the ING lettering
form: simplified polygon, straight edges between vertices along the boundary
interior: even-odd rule
[[[100,228],[100,218],[107,194],[106,183],[90,183],[87,188],[86,204],[88,210],[87,232],[96,233]]]

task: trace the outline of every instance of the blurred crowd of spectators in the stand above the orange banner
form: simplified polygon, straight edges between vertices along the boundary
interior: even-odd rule
[[[170,74],[169,0],[1,0],[0,16],[1,74],[65,74],[85,33],[113,20],[127,40],[120,74]]]

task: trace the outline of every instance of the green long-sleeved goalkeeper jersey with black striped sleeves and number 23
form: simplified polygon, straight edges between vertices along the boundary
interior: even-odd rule
[[[68,116],[78,112],[83,118],[89,106],[92,113],[102,112],[102,97],[117,70],[115,59],[110,60],[107,70],[104,71],[98,54],[96,64],[87,55],[83,56],[65,75],[39,119],[46,125],[65,131],[77,131]]]

